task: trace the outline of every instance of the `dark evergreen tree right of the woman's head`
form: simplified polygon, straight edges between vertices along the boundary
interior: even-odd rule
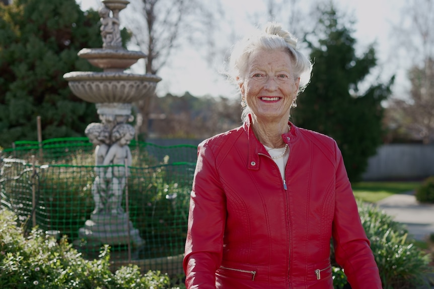
[[[372,46],[357,57],[351,30],[339,23],[333,6],[322,12],[315,35],[323,39],[309,42],[314,60],[312,79],[299,96],[293,110],[296,125],[333,137],[342,151],[348,177],[358,181],[365,172],[368,158],[382,143],[383,107],[390,95],[389,83],[371,84],[364,92],[358,89],[376,66]],[[364,83],[366,85],[366,83]]]

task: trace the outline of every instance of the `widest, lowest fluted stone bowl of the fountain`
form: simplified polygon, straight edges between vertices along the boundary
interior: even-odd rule
[[[73,71],[63,75],[77,97],[89,103],[133,103],[154,93],[160,77],[118,71]]]

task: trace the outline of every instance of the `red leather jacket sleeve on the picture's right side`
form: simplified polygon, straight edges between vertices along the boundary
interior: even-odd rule
[[[361,224],[357,204],[343,163],[336,152],[336,199],[333,219],[335,258],[353,289],[382,288],[374,254]]]

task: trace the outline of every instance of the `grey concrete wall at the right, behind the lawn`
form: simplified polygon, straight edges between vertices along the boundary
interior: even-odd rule
[[[423,179],[430,175],[434,175],[434,145],[387,144],[369,159],[363,179]]]

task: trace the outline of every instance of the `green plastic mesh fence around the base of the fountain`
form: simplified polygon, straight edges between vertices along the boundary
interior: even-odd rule
[[[98,258],[109,244],[114,268],[135,263],[143,272],[180,274],[197,147],[132,143],[130,149],[125,187],[113,197],[121,208],[116,214],[93,213],[101,200],[95,198],[98,167],[87,138],[17,142],[4,150],[1,206],[27,229],[37,225],[66,236],[86,258]]]

